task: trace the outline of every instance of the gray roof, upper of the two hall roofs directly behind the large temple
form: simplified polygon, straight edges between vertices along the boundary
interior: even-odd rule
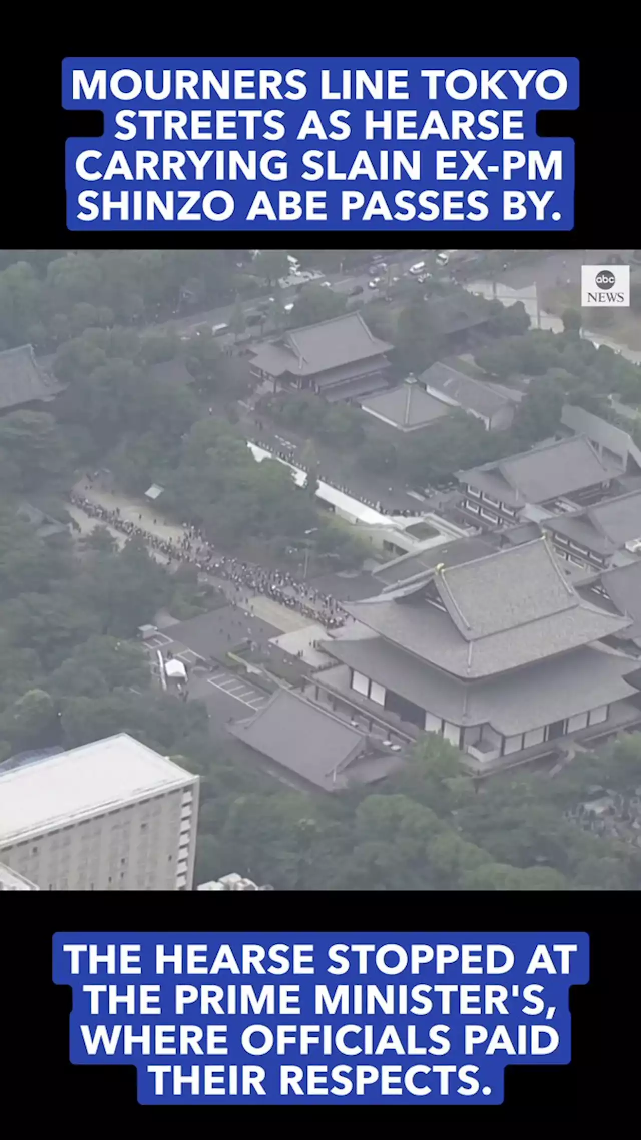
[[[584,487],[616,479],[623,466],[601,459],[583,435],[562,439],[499,462],[458,472],[462,483],[477,487],[502,503],[523,506],[547,503]]]

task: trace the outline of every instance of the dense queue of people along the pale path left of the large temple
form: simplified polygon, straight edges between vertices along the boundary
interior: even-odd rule
[[[189,562],[202,573],[229,581],[236,594],[262,594],[280,605],[296,610],[311,621],[318,621],[326,629],[339,629],[347,614],[330,594],[323,594],[310,583],[296,579],[286,570],[269,570],[252,562],[220,554],[202,530],[191,523],[182,524],[183,536],[179,542],[162,538],[142,527],[142,515],[138,522],[123,519],[118,507],[109,510],[83,495],[72,492],[71,503],[90,519],[112,527],[128,538],[140,538],[146,546],[162,554],[171,565],[173,561]],[[156,520],[154,520],[156,521]]]

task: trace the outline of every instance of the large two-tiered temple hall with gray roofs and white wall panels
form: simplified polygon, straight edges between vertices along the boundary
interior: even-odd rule
[[[471,557],[344,602],[315,699],[439,733],[479,772],[641,723],[639,661],[613,648],[631,617],[582,595],[545,538]]]

